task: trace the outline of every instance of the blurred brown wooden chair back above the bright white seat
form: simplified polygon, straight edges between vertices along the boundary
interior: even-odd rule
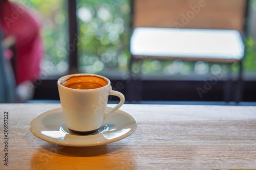
[[[133,27],[177,28],[179,23],[178,28],[242,33],[245,7],[244,0],[136,0]]]

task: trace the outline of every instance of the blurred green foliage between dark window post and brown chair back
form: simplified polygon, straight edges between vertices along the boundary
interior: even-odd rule
[[[124,72],[130,54],[130,1],[77,1],[81,72]]]

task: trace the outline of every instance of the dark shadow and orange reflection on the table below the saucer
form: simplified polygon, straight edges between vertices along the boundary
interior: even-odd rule
[[[26,134],[26,138],[26,142],[34,150],[30,161],[31,169],[68,169],[70,167],[100,169],[102,165],[107,169],[136,167],[136,160],[132,155],[117,156],[120,152],[125,152],[126,149],[123,148],[129,143],[128,141],[117,141],[95,147],[68,147],[40,140],[30,132]]]

